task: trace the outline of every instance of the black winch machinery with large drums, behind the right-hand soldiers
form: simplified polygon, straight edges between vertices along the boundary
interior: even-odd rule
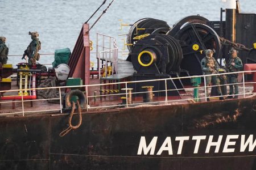
[[[223,12],[226,12],[225,21],[222,20]],[[181,19],[171,28],[162,20],[140,19],[127,34],[127,61],[131,61],[136,70],[133,80],[202,75],[200,62],[205,57],[206,49],[214,49],[214,58],[220,65],[224,59],[229,59],[230,48],[239,50],[243,63],[255,63],[255,27],[256,14],[241,13],[238,1],[234,8],[221,8],[220,21],[192,15]],[[165,89],[164,83],[159,81],[147,85],[161,91]],[[183,84],[189,83],[190,80],[184,79],[167,84],[171,89],[180,89]],[[130,87],[139,92],[144,85],[137,83]],[[172,91],[172,95],[179,95],[179,91]]]

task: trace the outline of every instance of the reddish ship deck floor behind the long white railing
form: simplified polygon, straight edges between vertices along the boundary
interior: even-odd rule
[[[133,72],[127,71],[131,70],[131,63],[127,61],[121,61],[118,64],[118,75],[109,75],[105,78],[98,79],[97,75],[90,76],[90,85],[82,87],[56,87],[56,88],[44,88],[38,89],[44,92],[49,90],[60,91],[61,95],[55,97],[49,97],[49,99],[42,99],[38,97],[35,100],[0,100],[1,109],[0,113],[2,116],[20,116],[20,115],[30,115],[30,114],[53,114],[53,113],[62,113],[63,110],[63,99],[65,91],[80,89],[81,91],[88,91],[86,95],[86,103],[82,105],[83,111],[101,111],[106,109],[117,109],[125,107],[144,107],[147,105],[176,105],[176,104],[188,104],[196,103],[194,99],[194,90],[195,87],[184,86],[184,89],[179,89],[179,96],[175,95],[157,95],[159,91],[154,90],[154,96],[149,102],[144,102],[143,94],[148,92],[133,92],[131,90],[131,99],[129,99],[129,88],[127,84],[130,83],[131,76]],[[127,69],[126,69],[127,68]],[[242,73],[240,73],[240,83],[239,86],[239,95],[238,98],[249,97],[254,95],[253,92],[253,83],[251,82],[242,82]],[[162,79],[161,79],[162,80]],[[3,93],[4,96],[17,96],[19,88],[16,85],[16,80],[13,80],[11,84],[12,91],[7,91]],[[227,90],[229,87],[227,84]],[[214,86],[213,86],[214,87]],[[199,91],[199,98],[197,102],[205,102],[205,87],[204,84],[201,84],[200,87],[197,87]],[[128,90],[126,90],[128,89]],[[115,92],[115,90],[118,90]],[[171,91],[172,89],[166,89]],[[224,95],[227,97],[228,95]],[[122,99],[126,97],[126,99]],[[218,96],[210,97],[210,102],[219,100]],[[225,99],[225,100],[234,100],[234,99]],[[64,107],[65,108],[65,107]]]

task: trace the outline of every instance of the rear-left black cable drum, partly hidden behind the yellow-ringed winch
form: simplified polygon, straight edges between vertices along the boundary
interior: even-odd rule
[[[139,30],[137,30],[137,28]],[[158,28],[170,28],[170,26],[163,20],[158,20],[154,18],[143,18],[141,20],[138,20],[130,28],[127,34],[126,42],[127,44],[133,44],[134,41],[137,41],[137,40],[134,40],[135,36],[144,35],[146,33],[151,34],[155,29],[158,29]],[[127,45],[127,48],[129,49],[129,51],[131,51],[133,46]]]

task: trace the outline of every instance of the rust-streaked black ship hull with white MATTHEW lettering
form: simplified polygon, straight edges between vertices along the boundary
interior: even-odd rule
[[[0,118],[0,169],[256,169],[255,98],[68,117]]]

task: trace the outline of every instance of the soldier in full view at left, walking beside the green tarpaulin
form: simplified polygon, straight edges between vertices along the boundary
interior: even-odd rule
[[[27,56],[29,63],[36,63],[36,61],[39,61],[40,54],[38,52],[41,49],[41,42],[38,39],[39,34],[38,32],[28,32],[28,35],[31,35],[32,41],[24,51],[22,59]]]

